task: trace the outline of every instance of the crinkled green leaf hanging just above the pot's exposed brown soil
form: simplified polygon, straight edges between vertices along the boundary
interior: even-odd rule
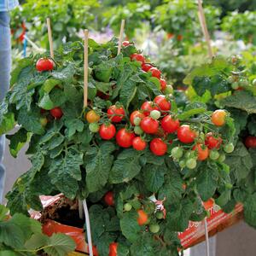
[[[81,180],[82,164],[83,154],[76,148],[68,148],[65,156],[55,158],[49,166],[51,183],[68,198],[73,199],[79,189],[78,181]]]

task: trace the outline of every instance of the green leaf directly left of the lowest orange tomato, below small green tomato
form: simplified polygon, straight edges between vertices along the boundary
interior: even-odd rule
[[[123,235],[128,241],[135,242],[139,239],[141,227],[137,223],[137,212],[125,212],[120,219],[120,227]]]

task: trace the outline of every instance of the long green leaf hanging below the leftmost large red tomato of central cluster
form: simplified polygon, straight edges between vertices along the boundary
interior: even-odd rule
[[[113,164],[113,143],[102,143],[99,148],[91,147],[85,155],[86,185],[89,192],[102,189],[108,182]]]

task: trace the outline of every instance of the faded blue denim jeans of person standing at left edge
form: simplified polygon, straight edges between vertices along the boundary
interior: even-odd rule
[[[11,68],[11,43],[9,28],[9,13],[0,12],[0,102],[9,89]],[[5,145],[4,136],[0,136],[0,203],[3,200],[3,187],[5,181],[5,168],[3,166],[3,153]]]

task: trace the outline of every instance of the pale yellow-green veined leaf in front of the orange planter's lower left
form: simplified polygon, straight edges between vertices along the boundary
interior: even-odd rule
[[[49,237],[47,247],[44,247],[44,252],[50,256],[66,256],[67,253],[73,252],[75,242],[73,238],[62,233],[54,233]]]

